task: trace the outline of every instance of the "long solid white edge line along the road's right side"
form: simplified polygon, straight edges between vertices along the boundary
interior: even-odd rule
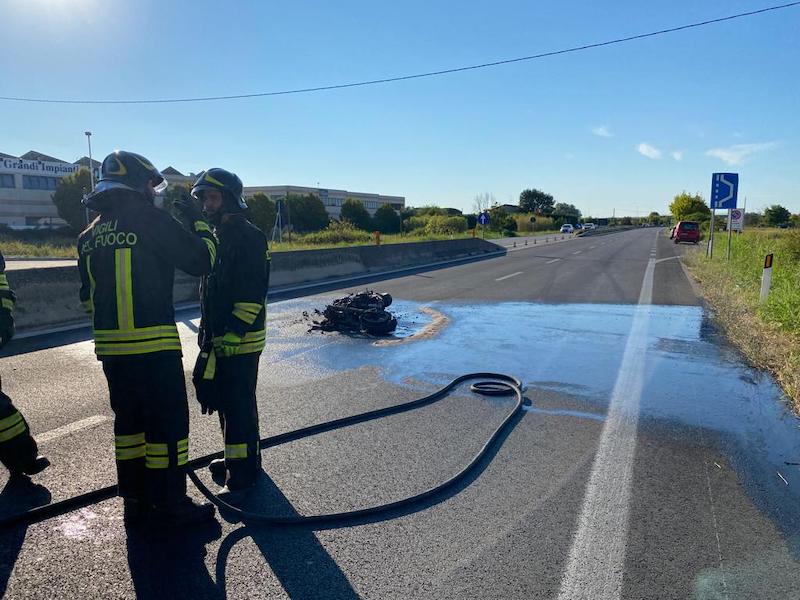
[[[559,600],[617,600],[622,596],[654,271],[655,259],[650,259],[561,580]]]

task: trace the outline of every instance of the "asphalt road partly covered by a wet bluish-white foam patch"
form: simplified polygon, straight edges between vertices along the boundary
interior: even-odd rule
[[[406,401],[472,371],[515,375],[528,406],[477,472],[417,510],[344,527],[126,535],[110,500],[0,533],[10,598],[800,597],[800,429],[774,382],[716,332],[676,248],[643,229],[370,284],[403,334],[308,333],[326,292],[270,304],[262,435]],[[357,288],[346,288],[350,291]],[[196,315],[182,314],[187,372]],[[77,340],[77,341],[76,341]],[[90,341],[0,359],[53,466],[5,486],[0,515],[114,482],[112,414]],[[460,389],[419,411],[264,454],[249,508],[315,514],[454,473],[509,407]],[[193,456],[216,419],[190,398]],[[4,477],[0,475],[0,477]]]

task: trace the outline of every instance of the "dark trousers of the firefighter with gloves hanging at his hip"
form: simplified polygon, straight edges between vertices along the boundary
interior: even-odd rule
[[[216,404],[225,439],[226,483],[231,489],[251,485],[261,470],[256,406],[260,358],[260,352],[217,358]]]

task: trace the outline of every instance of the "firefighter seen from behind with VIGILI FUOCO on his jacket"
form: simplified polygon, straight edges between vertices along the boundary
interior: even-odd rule
[[[216,240],[191,202],[183,225],[157,208],[164,176],[117,150],[85,200],[99,216],[78,238],[80,299],[114,411],[119,495],[126,526],[181,526],[214,518],[186,495],[189,412],[172,300],[175,269],[211,271]]]

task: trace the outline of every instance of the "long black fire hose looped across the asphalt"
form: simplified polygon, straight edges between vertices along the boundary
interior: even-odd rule
[[[343,417],[341,419],[334,419],[333,421],[326,421],[325,423],[319,423],[317,425],[303,427],[295,431],[281,433],[278,435],[274,435],[272,437],[264,438],[261,440],[259,444],[262,449],[272,448],[274,446],[279,446],[281,444],[286,444],[303,438],[311,437],[313,435],[317,435],[326,431],[341,429],[343,427],[349,427],[351,425],[356,425],[358,423],[363,423],[365,421],[371,421],[373,419],[388,417],[389,415],[396,415],[399,413],[421,408],[428,404],[432,404],[437,400],[441,400],[442,398],[447,396],[447,394],[450,391],[452,391],[456,386],[464,383],[465,381],[471,381],[475,379],[481,381],[472,384],[470,389],[473,392],[485,396],[514,395],[516,396],[516,402],[514,404],[514,407],[509,411],[509,413],[506,415],[506,417],[503,419],[500,425],[498,425],[498,427],[494,430],[491,436],[489,436],[489,439],[481,447],[478,453],[463,469],[461,469],[458,473],[456,473],[446,481],[440,483],[439,485],[430,488],[428,490],[425,490],[424,492],[415,494],[413,496],[409,496],[407,498],[403,498],[401,500],[396,500],[394,502],[389,502],[386,504],[380,504],[377,506],[371,506],[368,508],[345,511],[340,513],[331,513],[326,515],[308,515],[308,516],[301,515],[296,517],[275,517],[261,513],[248,512],[239,509],[235,506],[232,506],[227,502],[217,498],[216,495],[214,495],[214,493],[211,492],[205,486],[205,484],[203,484],[202,481],[200,481],[200,478],[197,476],[195,471],[199,468],[207,466],[212,460],[215,460],[217,458],[222,458],[224,454],[223,452],[215,452],[213,454],[201,456],[190,461],[188,465],[189,479],[192,480],[192,483],[194,483],[197,489],[200,490],[200,492],[206,498],[208,498],[209,501],[211,501],[221,510],[235,514],[240,519],[243,520],[257,521],[260,523],[267,523],[272,525],[308,525],[310,523],[351,521],[363,518],[365,516],[372,516],[380,513],[389,512],[401,507],[407,507],[409,505],[420,502],[426,498],[430,498],[431,496],[434,496],[435,494],[438,494],[446,490],[447,488],[452,487],[460,480],[462,480],[486,455],[486,453],[489,451],[494,442],[509,426],[512,419],[522,411],[522,406],[524,403],[524,398],[522,395],[522,383],[517,378],[512,377],[510,375],[503,375],[500,373],[469,373],[467,375],[461,375],[460,377],[457,377],[456,379],[448,383],[443,388],[423,398],[412,400],[410,402],[405,402],[403,404],[387,406],[386,408],[380,408],[377,410],[368,411],[358,415]],[[116,495],[117,495],[117,486],[116,485],[107,486],[104,488],[93,490],[91,492],[86,492],[85,494],[79,494],[78,496],[74,496],[72,498],[67,498],[66,500],[61,500],[60,502],[54,502],[52,504],[47,504],[45,506],[40,506],[37,508],[30,509],[23,513],[2,518],[0,519],[0,528],[11,527],[14,525],[32,525],[34,523],[39,523],[47,519],[52,519],[53,517],[58,517],[67,514],[69,512],[84,508],[86,506],[90,506],[92,504],[97,504],[98,502],[102,502],[104,500],[113,498]]]

